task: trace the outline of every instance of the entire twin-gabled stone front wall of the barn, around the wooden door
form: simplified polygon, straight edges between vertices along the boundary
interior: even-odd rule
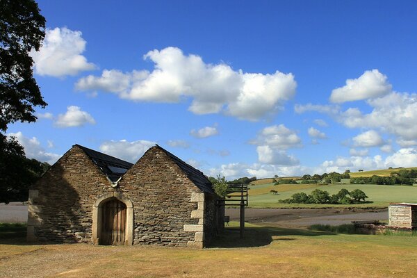
[[[98,243],[100,202],[116,197],[133,212],[126,227],[132,230],[131,243],[126,244],[201,248],[215,235],[218,213],[207,196],[159,147],[145,153],[112,188],[75,146],[30,191],[28,240]]]

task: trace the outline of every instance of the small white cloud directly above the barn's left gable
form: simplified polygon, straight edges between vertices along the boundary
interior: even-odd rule
[[[58,127],[83,126],[95,124],[95,120],[89,113],[81,111],[79,106],[68,106],[67,112],[59,114],[54,124]]]

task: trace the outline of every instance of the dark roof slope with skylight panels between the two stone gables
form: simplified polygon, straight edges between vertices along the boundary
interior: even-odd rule
[[[95,165],[97,165],[101,171],[107,175],[108,179],[111,179],[111,181],[117,181],[117,179],[122,177],[123,174],[133,166],[132,163],[97,152],[94,149],[88,149],[87,147],[77,144],[75,146],[82,149],[85,154],[91,158],[92,162],[94,162]]]

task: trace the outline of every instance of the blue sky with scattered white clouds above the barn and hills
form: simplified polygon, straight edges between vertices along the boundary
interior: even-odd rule
[[[215,177],[417,166],[416,1],[38,1],[26,156],[155,144]]]

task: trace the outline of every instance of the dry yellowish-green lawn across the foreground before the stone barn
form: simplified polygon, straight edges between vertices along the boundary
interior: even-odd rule
[[[204,250],[26,245],[0,234],[1,277],[417,277],[417,237],[333,234],[236,222]]]

